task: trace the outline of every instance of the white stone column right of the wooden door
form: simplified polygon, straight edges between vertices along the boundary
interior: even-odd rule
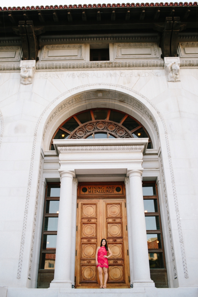
[[[128,171],[131,196],[133,287],[155,287],[150,278],[146,223],[142,194],[142,171]]]

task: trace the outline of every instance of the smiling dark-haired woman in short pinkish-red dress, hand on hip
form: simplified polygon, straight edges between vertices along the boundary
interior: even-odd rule
[[[107,251],[109,252],[109,256],[107,256]],[[96,250],[96,257],[95,257],[96,258],[95,263],[98,267],[98,274],[100,279],[100,289],[102,288],[106,289],[106,283],[108,279],[107,268],[109,267],[107,258],[110,258],[111,256],[112,256],[112,252],[107,247],[106,239],[103,238],[100,242],[100,247],[98,247]],[[104,285],[103,285],[103,272],[104,272]]]

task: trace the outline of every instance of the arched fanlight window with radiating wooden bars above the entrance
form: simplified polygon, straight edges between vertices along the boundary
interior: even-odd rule
[[[153,148],[142,124],[127,113],[114,109],[90,109],[71,116],[54,133],[50,150],[54,150],[53,139],[81,138],[149,138],[147,148]]]

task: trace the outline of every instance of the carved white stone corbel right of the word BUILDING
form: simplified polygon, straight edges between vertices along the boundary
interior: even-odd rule
[[[168,81],[180,81],[180,58],[164,57],[164,69]]]

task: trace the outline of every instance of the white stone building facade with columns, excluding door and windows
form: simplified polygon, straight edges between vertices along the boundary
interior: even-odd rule
[[[125,182],[133,288],[106,293],[197,296],[198,43],[181,35],[178,57],[162,59],[156,38],[59,42],[42,36],[39,61],[21,61],[17,38],[1,46],[2,296],[99,296],[98,289],[71,288],[83,182]],[[90,48],[101,42],[109,61],[90,61]],[[148,138],[83,138],[55,139],[50,149],[64,121],[100,108],[136,119],[152,147]],[[54,280],[37,289],[45,188],[60,177]],[[142,181],[155,181],[158,189],[168,288],[155,288],[150,278]]]

